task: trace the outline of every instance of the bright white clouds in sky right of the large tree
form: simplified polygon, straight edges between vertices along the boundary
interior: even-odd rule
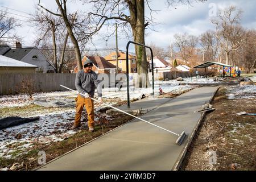
[[[178,6],[176,10],[162,10],[160,13],[155,14],[155,21],[164,22],[164,24],[156,27],[158,32],[151,31],[150,35],[146,37],[146,42],[154,42],[160,47],[167,47],[170,45],[173,36],[177,33],[187,32],[188,34],[199,36],[207,30],[214,30],[214,26],[210,22],[212,17],[209,16],[210,3],[214,3],[217,10],[225,9],[230,5],[243,9],[242,26],[256,28],[256,13],[254,11],[256,1],[249,0],[245,3],[242,0],[209,0],[205,3],[193,3],[193,7],[183,5]],[[158,5],[156,4],[154,7],[158,7]]]

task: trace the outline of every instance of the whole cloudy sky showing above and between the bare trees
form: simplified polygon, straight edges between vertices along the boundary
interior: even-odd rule
[[[30,16],[28,14],[34,13],[34,6],[38,2],[39,1],[36,0],[0,0],[0,9],[13,13],[9,14],[9,16],[13,16],[16,19],[27,20],[27,18],[23,16]],[[72,2],[76,3],[72,3],[68,6],[69,11],[84,11],[86,9],[86,7],[82,5],[81,1],[76,0]],[[55,1],[40,0],[40,4],[46,6],[48,9],[56,11]],[[159,24],[154,27],[156,31],[146,30],[148,33],[148,36],[146,36],[146,44],[153,42],[159,47],[167,48],[176,33],[187,32],[188,34],[199,36],[203,32],[214,28],[210,23],[210,18],[213,18],[212,15],[214,15],[214,10],[218,11],[218,9],[224,9],[230,5],[236,5],[244,11],[241,21],[243,27],[256,28],[255,0],[208,0],[204,3],[193,3],[192,7],[187,5],[176,6],[176,9],[174,7],[170,7],[168,9],[166,1],[164,0],[151,0],[152,9],[160,10],[158,13],[153,14],[155,22],[158,22]],[[5,7],[8,7],[9,9],[6,9]],[[145,7],[146,15],[148,15],[149,10],[147,9],[147,6]],[[24,13],[20,11],[23,11]],[[21,23],[23,24],[23,27],[17,28],[17,31],[18,35],[24,38],[22,44],[24,46],[33,46],[33,40],[35,39],[34,28],[29,26],[26,22]],[[103,34],[104,31],[105,30],[102,29],[101,34]],[[100,40],[98,39],[99,38],[94,39],[97,48],[106,48],[105,40],[102,38],[100,38]],[[125,50],[126,43],[129,40],[122,36],[118,41],[119,49]],[[115,47],[114,37],[109,39],[107,46]]]

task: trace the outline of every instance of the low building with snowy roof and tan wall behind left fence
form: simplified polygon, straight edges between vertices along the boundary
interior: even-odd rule
[[[0,73],[35,73],[36,65],[0,55]]]

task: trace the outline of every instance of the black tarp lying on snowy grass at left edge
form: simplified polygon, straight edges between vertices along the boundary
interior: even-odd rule
[[[0,130],[6,129],[12,126],[22,125],[24,123],[32,122],[38,120],[40,117],[34,118],[21,118],[21,117],[7,117],[0,119]]]

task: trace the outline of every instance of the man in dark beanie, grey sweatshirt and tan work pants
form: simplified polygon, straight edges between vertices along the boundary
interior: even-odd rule
[[[101,85],[100,81],[98,81],[97,74],[92,71],[93,62],[87,59],[84,63],[84,69],[80,70],[76,74],[76,89],[79,91],[76,98],[76,116],[75,123],[71,127],[71,130],[76,129],[81,126],[81,115],[82,109],[84,106],[86,107],[86,111],[88,114],[88,127],[89,131],[92,132],[94,126],[94,107],[93,107],[93,98],[95,87],[98,91],[98,101],[102,104],[102,94],[101,94]]]

